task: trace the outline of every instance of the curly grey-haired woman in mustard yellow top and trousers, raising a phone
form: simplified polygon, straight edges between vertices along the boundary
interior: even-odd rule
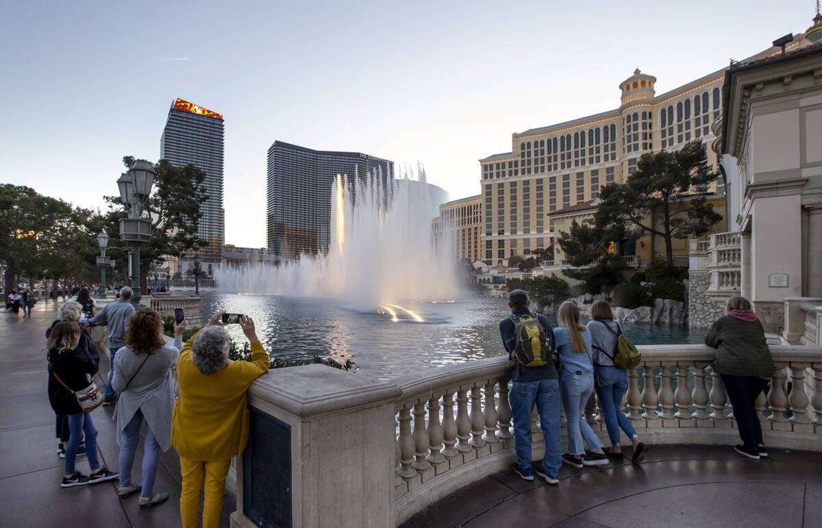
[[[231,457],[239,456],[248,440],[246,391],[269,368],[254,322],[246,316],[240,317],[240,327],[251,341],[252,361],[229,361],[231,340],[219,322],[221,316],[215,314],[188,340],[177,361],[180,396],[171,420],[171,443],[180,456],[180,516],[185,528],[199,520],[204,477],[202,526],[219,526]]]

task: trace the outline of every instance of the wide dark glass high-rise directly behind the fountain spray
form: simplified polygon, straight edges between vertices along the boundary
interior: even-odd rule
[[[268,150],[266,243],[279,257],[328,252],[331,187],[337,174],[349,182],[379,174],[391,189],[394,162],[359,152],[314,151],[275,141]]]

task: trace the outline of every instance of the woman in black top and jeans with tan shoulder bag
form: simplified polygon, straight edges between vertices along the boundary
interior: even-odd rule
[[[91,376],[97,372],[97,362],[77,345],[81,329],[73,322],[58,322],[46,340],[48,350],[48,402],[58,415],[68,416],[70,437],[66,446],[65,471],[62,488],[95,484],[116,479],[118,473],[100,465],[97,457],[97,429],[90,413],[84,413],[73,391],[89,386]],[[75,467],[77,447],[85,433],[85,454],[88,457],[90,475],[84,475]]]

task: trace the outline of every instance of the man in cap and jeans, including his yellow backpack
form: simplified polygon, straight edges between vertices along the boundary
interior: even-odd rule
[[[551,323],[531,313],[528,294],[515,289],[508,294],[510,317],[500,322],[502,345],[511,367],[509,400],[514,422],[515,473],[533,480],[533,472],[548,484],[557,484],[562,463],[560,441],[560,388],[554,364],[554,332]],[[531,411],[537,405],[539,425],[545,438],[542,464],[531,467]]]

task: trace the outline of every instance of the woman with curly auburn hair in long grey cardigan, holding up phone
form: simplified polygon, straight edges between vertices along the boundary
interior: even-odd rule
[[[174,345],[163,339],[163,320],[153,308],[142,308],[129,318],[126,346],[114,359],[112,387],[120,397],[114,419],[120,444],[120,487],[126,497],[141,491],[137,504],[149,507],[164,502],[169,493],[153,493],[159,450],[171,447],[171,415],[174,407],[171,369],[177,365],[186,322],[174,325]],[[142,483],[132,484],[132,465],[140,429],[145,419]]]

